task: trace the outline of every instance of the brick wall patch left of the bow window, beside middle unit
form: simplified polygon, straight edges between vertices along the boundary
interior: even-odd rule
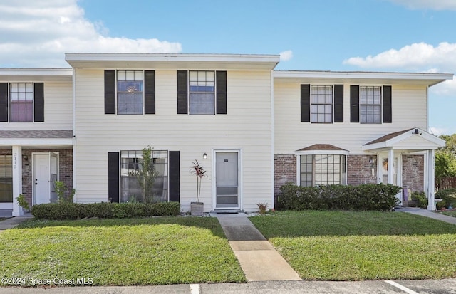
[[[296,155],[274,154],[274,195],[288,182],[296,184]]]

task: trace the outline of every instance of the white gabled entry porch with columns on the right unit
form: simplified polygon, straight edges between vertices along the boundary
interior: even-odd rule
[[[435,150],[444,147],[445,140],[413,127],[393,132],[363,145],[363,151],[377,154],[378,183],[394,184],[403,187],[404,154],[423,155],[423,191],[427,196],[427,210],[435,210]],[[410,196],[409,196],[410,197]],[[403,204],[402,195],[398,195]]]

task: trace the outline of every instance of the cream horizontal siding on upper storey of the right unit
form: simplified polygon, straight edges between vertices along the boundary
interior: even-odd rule
[[[305,83],[305,82],[304,82]],[[341,84],[334,80],[334,84]],[[393,123],[350,123],[350,83],[344,84],[343,123],[307,124],[300,121],[301,83],[274,84],[274,154],[291,154],[314,144],[331,144],[350,154],[365,154],[364,144],[390,132],[420,127],[427,130],[427,87],[393,85]]]

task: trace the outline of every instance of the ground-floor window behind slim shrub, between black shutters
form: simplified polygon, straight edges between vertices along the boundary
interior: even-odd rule
[[[168,152],[152,150],[155,169],[153,202],[168,201]],[[141,150],[120,151],[120,202],[142,202],[144,194],[139,183],[142,167]]]

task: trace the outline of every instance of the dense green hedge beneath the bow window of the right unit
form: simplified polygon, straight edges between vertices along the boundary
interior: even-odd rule
[[[279,205],[288,210],[387,211],[398,205],[396,194],[401,189],[392,184],[300,187],[289,183],[280,188]]]

